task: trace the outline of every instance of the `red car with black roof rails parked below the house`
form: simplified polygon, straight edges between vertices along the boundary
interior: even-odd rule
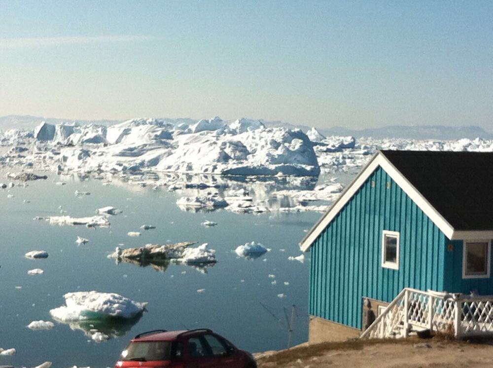
[[[115,368],[256,368],[253,356],[209,329],[139,333]]]

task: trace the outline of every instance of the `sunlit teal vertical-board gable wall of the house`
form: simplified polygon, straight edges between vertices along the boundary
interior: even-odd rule
[[[400,232],[398,270],[382,267],[383,230]],[[447,244],[440,229],[377,168],[311,248],[310,314],[360,329],[364,296],[389,302],[405,287],[446,290],[445,265],[456,262]]]

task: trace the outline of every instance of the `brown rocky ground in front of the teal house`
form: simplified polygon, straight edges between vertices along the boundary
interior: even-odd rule
[[[491,342],[426,340],[345,341],[255,354],[258,367],[491,367]]]

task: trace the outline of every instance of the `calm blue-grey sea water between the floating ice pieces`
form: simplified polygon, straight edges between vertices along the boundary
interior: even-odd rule
[[[13,357],[0,356],[0,365],[32,367],[52,361],[54,367],[112,367],[130,338],[155,329],[206,327],[252,352],[282,349],[288,344],[286,314],[291,316],[293,305],[291,344],[307,340],[309,254],[305,263],[287,258],[301,254],[298,242],[319,213],[184,212],[176,206],[176,194],[166,189],[136,191],[124,184],[104,186],[98,180],[55,185],[59,180],[51,175],[27,187],[0,191],[0,347],[17,349]],[[76,189],[91,195],[76,197]],[[9,193],[14,197],[7,198]],[[92,216],[109,205],[123,210],[110,218],[109,228],[33,220],[59,215],[59,206],[67,215],[78,217]],[[205,220],[218,225],[205,228],[200,225]],[[141,230],[142,224],[156,229]],[[142,235],[129,237],[129,231]],[[77,236],[90,242],[77,246]],[[162,272],[151,266],[115,264],[106,257],[118,244],[137,247],[181,241],[209,243],[217,252],[217,264],[207,273],[173,264]],[[238,258],[233,250],[251,241],[272,250],[253,260]],[[49,258],[24,258],[32,250],[45,250]],[[44,274],[28,275],[33,268],[42,268]],[[199,289],[205,291],[198,293]],[[123,326],[55,322],[49,331],[26,327],[35,320],[52,321],[49,310],[64,304],[63,294],[91,290],[147,301],[148,311]],[[110,332],[113,337],[97,343],[90,339],[90,329]]]

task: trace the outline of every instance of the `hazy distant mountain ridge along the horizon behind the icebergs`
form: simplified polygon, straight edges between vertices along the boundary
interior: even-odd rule
[[[169,123],[187,123],[195,124],[198,119],[191,118],[159,118]],[[50,124],[60,124],[62,122],[69,124],[97,124],[97,125],[114,125],[123,122],[124,120],[79,120],[79,119],[60,119],[53,117],[41,117],[31,115],[7,115],[0,117],[0,130],[7,129],[34,129],[39,123],[46,121]],[[285,127],[288,129],[301,129],[303,132],[308,132],[312,127],[302,124],[291,124],[283,121],[266,121],[260,119],[260,121],[267,127]],[[443,125],[389,125],[380,128],[366,128],[366,129],[349,129],[341,126],[334,126],[331,128],[318,128],[317,130],[326,137],[329,136],[353,136],[359,137],[373,137],[373,138],[404,138],[404,139],[437,139],[437,140],[457,140],[461,138],[475,139],[493,139],[493,133],[485,131],[478,126],[462,126],[462,127],[449,127]]]

